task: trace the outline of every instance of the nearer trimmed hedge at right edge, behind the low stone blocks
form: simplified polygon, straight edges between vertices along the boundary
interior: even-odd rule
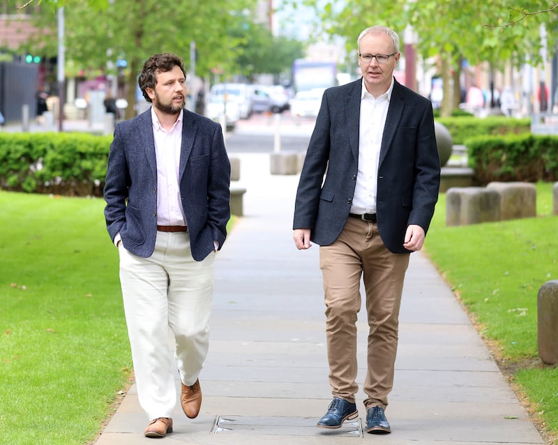
[[[469,167],[478,185],[491,181],[558,180],[558,137],[548,135],[478,136],[467,139]]]

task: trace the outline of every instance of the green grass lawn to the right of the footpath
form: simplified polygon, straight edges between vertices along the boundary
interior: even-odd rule
[[[537,218],[446,227],[437,204],[425,252],[457,294],[531,410],[558,435],[558,368],[537,352],[537,294],[558,279],[558,217],[552,183],[538,183]],[[558,339],[557,339],[558,341]]]

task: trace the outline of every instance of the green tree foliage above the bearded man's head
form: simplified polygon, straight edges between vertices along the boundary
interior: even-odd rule
[[[68,66],[111,70],[117,59],[127,61],[128,103],[135,103],[136,77],[144,61],[157,52],[174,52],[190,65],[190,43],[197,51],[196,73],[280,73],[299,56],[300,44],[273,38],[255,24],[256,0],[36,0],[43,8],[36,27],[43,36],[27,45],[42,47],[56,56],[56,13],[64,6],[66,69]],[[181,6],[183,5],[183,6]],[[277,55],[291,54],[291,61],[277,63]],[[108,62],[108,63],[107,63]],[[287,65],[285,65],[287,63]],[[107,73],[107,74],[114,74]],[[126,117],[133,115],[128,107]]]

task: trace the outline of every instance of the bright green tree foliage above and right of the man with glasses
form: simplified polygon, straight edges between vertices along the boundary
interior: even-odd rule
[[[418,36],[418,53],[425,61],[439,63],[444,98],[451,96],[451,73],[460,70],[462,60],[471,66],[489,62],[495,69],[506,61],[525,63],[526,56],[536,63],[540,60],[539,24],[547,24],[548,47],[558,31],[558,15],[554,13],[529,14],[528,19],[518,20],[527,11],[555,8],[556,2],[548,0],[524,0],[521,8],[517,8],[517,0],[347,0],[340,9],[336,0],[325,2],[305,0],[320,15],[324,31],[346,39],[355,63],[356,37],[362,29],[386,25],[398,31],[403,40],[405,29],[411,26]],[[443,114],[451,112],[451,105],[442,105]]]

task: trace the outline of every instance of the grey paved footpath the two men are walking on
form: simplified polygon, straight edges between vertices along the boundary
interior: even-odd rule
[[[315,428],[331,400],[317,246],[292,241],[298,176],[269,174],[269,154],[241,158],[243,218],[217,255],[204,400],[190,420],[178,404],[165,444],[543,444],[451,290],[419,252],[403,292],[391,435]],[[428,239],[427,239],[428,246]],[[362,386],[367,324],[359,314]],[[178,375],[176,387],[179,389]],[[96,445],[153,444],[132,386]]]

